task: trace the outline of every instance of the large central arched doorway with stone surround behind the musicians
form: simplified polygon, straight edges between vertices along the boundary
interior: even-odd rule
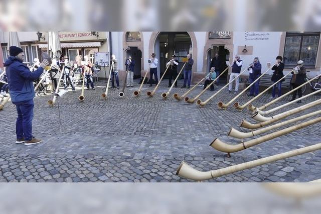
[[[167,60],[175,53],[179,60],[178,72],[183,66],[182,58],[191,54],[194,59],[192,67],[193,73],[197,71],[197,42],[194,32],[153,32],[149,40],[149,55],[156,54],[159,63],[157,66],[157,76],[160,78],[166,69]]]

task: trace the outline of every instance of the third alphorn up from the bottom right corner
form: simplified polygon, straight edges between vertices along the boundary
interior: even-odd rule
[[[251,131],[251,132],[240,132],[237,129],[234,129],[232,127],[231,130],[229,131],[229,133],[227,134],[227,136],[234,137],[234,138],[240,138],[240,139],[250,138],[250,137],[253,137],[255,135],[260,135],[262,133],[271,131],[273,129],[280,128],[280,127],[283,127],[283,126],[288,125],[290,123],[294,123],[296,121],[300,121],[300,120],[303,120],[305,118],[309,118],[309,117],[312,117],[312,116],[315,116],[315,115],[318,115],[318,114],[321,114],[321,110],[316,111],[316,112],[312,112],[312,113],[309,113],[309,114],[306,114],[306,115],[302,115],[300,117],[293,118],[291,120],[287,120],[287,121],[284,121],[284,122],[281,122],[281,123],[278,123],[278,124],[274,124],[272,126],[268,126],[268,127],[262,128],[262,129]]]

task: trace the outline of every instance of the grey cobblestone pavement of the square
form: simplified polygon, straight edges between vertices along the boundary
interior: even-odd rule
[[[173,88],[170,98],[164,100],[161,92],[168,90],[167,81],[162,82],[153,97],[146,96],[146,91],[153,89],[147,84],[138,97],[133,97],[133,91],[139,86],[137,82],[137,87],[125,89],[122,98],[118,96],[120,90],[110,89],[107,100],[100,97],[105,82],[96,83],[100,87],[96,87],[95,91],[85,90],[83,102],[78,100],[80,89],[76,93],[69,90],[58,100],[62,123],[60,133],[58,103],[51,108],[47,101],[52,95],[38,96],[35,98],[33,134],[44,142],[28,147],[14,143],[17,113],[15,106],[7,103],[4,111],[0,112],[0,181],[187,182],[190,180],[175,175],[182,160],[198,170],[208,171],[321,142],[321,124],[314,124],[233,153],[231,158],[227,158],[226,154],[214,150],[209,144],[216,137],[230,144],[239,143],[240,140],[226,134],[231,127],[246,131],[238,126],[244,118],[254,122],[250,112],[245,109],[239,112],[232,106],[228,110],[218,110],[219,100],[228,101],[234,96],[226,90],[204,108],[172,97],[175,92],[183,94],[186,88]],[[179,85],[182,85],[181,81]],[[200,91],[201,87],[198,87],[190,96]],[[206,91],[201,99],[211,94],[212,91]],[[260,97],[254,104],[259,106],[268,102],[269,96]],[[287,102],[289,98],[283,98],[270,108]],[[292,104],[272,115],[318,98],[319,95],[311,96],[301,104]],[[249,99],[243,94],[238,100],[243,104]],[[297,115],[318,109],[319,106],[316,106]],[[319,158],[321,152],[316,151],[208,181],[310,181],[321,178]]]

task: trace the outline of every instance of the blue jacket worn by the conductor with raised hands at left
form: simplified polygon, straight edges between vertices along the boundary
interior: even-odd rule
[[[20,102],[33,99],[35,97],[33,81],[41,76],[44,69],[40,67],[31,72],[22,61],[13,56],[6,60],[5,66],[11,100]]]

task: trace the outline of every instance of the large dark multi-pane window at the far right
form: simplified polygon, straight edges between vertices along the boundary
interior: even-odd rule
[[[287,32],[284,47],[284,65],[293,67],[303,60],[304,67],[315,67],[320,32]]]

